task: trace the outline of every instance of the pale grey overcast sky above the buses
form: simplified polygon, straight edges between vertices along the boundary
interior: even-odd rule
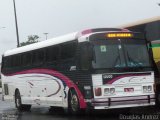
[[[160,0],[15,0],[20,42],[160,16]],[[5,28],[4,28],[5,27]],[[13,0],[0,0],[0,55],[16,48]],[[0,60],[1,61],[1,60]]]

